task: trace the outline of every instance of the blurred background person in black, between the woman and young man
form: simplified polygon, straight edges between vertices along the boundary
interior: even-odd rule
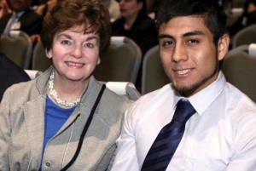
[[[131,38],[143,56],[158,44],[155,22],[148,17],[146,0],[119,0],[121,18],[112,24],[112,36]],[[143,64],[143,61],[142,63]],[[136,88],[141,90],[142,65],[138,71]]]

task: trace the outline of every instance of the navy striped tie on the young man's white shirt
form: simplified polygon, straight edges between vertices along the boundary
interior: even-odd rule
[[[166,170],[177,145],[183,138],[186,122],[195,114],[189,100],[179,100],[172,122],[160,130],[143,162],[142,171]]]

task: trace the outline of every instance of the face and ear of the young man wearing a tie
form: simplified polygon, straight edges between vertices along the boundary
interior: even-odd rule
[[[218,60],[227,53],[228,35],[213,43],[212,32],[197,16],[175,17],[160,26],[160,58],[172,86],[189,97],[218,77]]]

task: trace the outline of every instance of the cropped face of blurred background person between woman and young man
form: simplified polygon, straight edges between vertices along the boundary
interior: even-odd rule
[[[119,0],[119,7],[121,16],[129,19],[136,16],[143,9],[143,3],[137,2],[137,0]]]

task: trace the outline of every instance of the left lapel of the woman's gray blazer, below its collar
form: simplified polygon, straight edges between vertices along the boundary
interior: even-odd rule
[[[31,143],[32,168],[37,168],[41,163],[44,142],[44,106],[45,98],[42,96],[24,105],[27,134]]]

